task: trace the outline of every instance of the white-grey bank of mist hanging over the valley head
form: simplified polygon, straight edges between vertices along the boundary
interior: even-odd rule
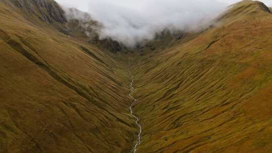
[[[129,47],[152,40],[164,29],[201,30],[229,6],[223,0],[80,0],[76,6],[69,1],[60,4],[86,11],[101,23],[100,39],[111,38]]]

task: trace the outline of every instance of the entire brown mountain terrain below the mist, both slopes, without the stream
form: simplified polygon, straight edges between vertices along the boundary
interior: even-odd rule
[[[271,11],[242,1],[214,22],[131,49],[54,1],[0,0],[0,152],[129,152],[129,71],[137,152],[270,152]]]

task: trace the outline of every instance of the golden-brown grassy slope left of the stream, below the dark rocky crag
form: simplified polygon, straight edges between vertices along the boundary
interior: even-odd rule
[[[0,152],[128,152],[126,69],[16,12],[0,3]]]

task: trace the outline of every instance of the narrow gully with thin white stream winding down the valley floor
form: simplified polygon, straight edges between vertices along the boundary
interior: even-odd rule
[[[130,75],[130,84],[129,84],[129,88],[130,88],[130,93],[129,93],[129,97],[131,97],[133,99],[133,102],[131,103],[131,105],[129,106],[129,112],[130,115],[132,115],[135,118],[135,124],[139,127],[139,133],[137,135],[137,142],[134,144],[132,150],[130,151],[135,153],[137,151],[137,146],[139,144],[141,144],[141,133],[142,133],[142,126],[139,123],[140,119],[133,114],[133,106],[137,103],[137,99],[135,99],[132,94],[134,93],[134,88],[133,88],[133,75],[131,74],[131,72],[129,71],[129,75]]]

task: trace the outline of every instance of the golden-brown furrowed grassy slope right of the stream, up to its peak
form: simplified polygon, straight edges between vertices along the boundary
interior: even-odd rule
[[[135,61],[138,152],[272,150],[272,14],[243,1],[215,25]]]

